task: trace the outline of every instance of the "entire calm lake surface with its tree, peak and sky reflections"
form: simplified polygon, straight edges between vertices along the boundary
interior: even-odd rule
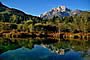
[[[90,60],[90,40],[0,38],[0,60]]]

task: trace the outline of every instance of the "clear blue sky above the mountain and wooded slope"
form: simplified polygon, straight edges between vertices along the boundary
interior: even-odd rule
[[[90,0],[0,0],[10,8],[19,9],[27,14],[39,16],[51,8],[66,6],[72,10],[90,10]]]

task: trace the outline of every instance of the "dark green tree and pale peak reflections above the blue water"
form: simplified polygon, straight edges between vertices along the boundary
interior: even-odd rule
[[[40,45],[43,48],[48,48],[52,53],[65,55],[70,51],[78,52],[82,57],[90,57],[90,40],[56,40],[55,38],[0,38],[0,53],[8,50],[15,50],[21,47],[32,49],[35,45]]]

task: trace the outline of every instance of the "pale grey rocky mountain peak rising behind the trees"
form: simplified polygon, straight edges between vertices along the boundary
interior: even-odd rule
[[[52,8],[49,12],[41,14],[40,17],[43,19],[52,19],[54,16],[58,17],[75,16],[75,15],[79,16],[80,14],[81,14],[80,10],[73,11],[69,8],[66,8],[65,6],[59,6],[58,8]]]

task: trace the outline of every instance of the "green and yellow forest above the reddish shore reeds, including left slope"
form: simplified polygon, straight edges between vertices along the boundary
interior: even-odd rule
[[[80,11],[75,16],[54,16],[52,19],[42,19],[37,16],[8,8],[0,3],[0,31],[16,32],[90,32],[90,12]]]

